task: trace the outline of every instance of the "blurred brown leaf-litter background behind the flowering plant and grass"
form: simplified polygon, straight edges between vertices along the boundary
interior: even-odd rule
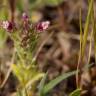
[[[94,5],[95,3],[94,0]],[[40,35],[38,45],[42,44],[42,48],[37,58],[38,69],[42,72],[48,71],[48,81],[50,81],[64,72],[77,68],[80,49],[80,8],[82,30],[84,30],[88,0],[0,0],[0,20],[20,23],[22,13],[26,12],[34,24],[40,21],[50,21],[48,31]],[[91,24],[89,33],[90,30]],[[80,67],[87,63],[88,52],[89,39],[84,61]],[[8,72],[12,53],[13,41],[0,28],[0,84]],[[94,49],[91,52],[91,63],[95,63]],[[90,70],[91,74],[84,72],[81,76],[83,89],[86,90],[82,96],[96,96],[96,65],[92,66]],[[0,89],[0,96],[14,96],[17,83],[16,78],[11,73],[4,88]],[[75,76],[72,76],[58,84],[49,96],[68,96],[75,89],[76,80]]]

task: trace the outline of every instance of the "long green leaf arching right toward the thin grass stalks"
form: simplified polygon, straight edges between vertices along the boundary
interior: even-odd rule
[[[75,75],[76,71],[64,73],[61,76],[58,76],[54,80],[50,81],[48,84],[45,85],[43,88],[43,94],[45,95],[48,93],[50,90],[52,90],[57,84],[59,84],[62,80],[67,79],[68,77]]]

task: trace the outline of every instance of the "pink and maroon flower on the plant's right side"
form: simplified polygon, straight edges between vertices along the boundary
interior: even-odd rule
[[[44,31],[49,27],[49,25],[50,25],[49,21],[43,21],[43,22],[40,22],[36,25],[36,29],[38,31]]]

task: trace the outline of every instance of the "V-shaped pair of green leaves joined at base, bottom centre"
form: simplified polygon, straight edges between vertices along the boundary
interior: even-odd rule
[[[39,85],[39,95],[40,96],[46,96],[46,94],[48,92],[50,92],[62,80],[65,80],[68,77],[75,75],[76,72],[77,71],[72,71],[72,72],[64,73],[64,74],[56,77],[52,81],[50,81],[48,84],[45,84],[45,81],[46,81],[46,78],[47,78],[47,74],[48,74],[48,73],[46,73],[46,75],[44,76],[44,78],[42,79],[42,81],[40,82],[40,85]]]

